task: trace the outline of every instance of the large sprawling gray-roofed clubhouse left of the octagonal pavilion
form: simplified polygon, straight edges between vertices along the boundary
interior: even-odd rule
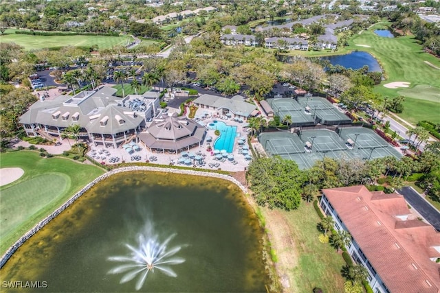
[[[77,124],[80,139],[105,148],[118,148],[142,131],[158,113],[159,95],[115,96],[116,89],[82,91],[74,96],[60,95],[53,100],[40,99],[23,114],[19,123],[29,137],[61,139],[63,130]]]

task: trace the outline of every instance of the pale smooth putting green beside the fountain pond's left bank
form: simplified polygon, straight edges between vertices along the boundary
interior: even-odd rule
[[[0,238],[32,218],[43,207],[61,196],[70,185],[70,178],[54,173],[34,177],[4,189],[0,194]]]

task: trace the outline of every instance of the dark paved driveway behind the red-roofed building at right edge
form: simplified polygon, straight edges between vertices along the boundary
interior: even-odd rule
[[[411,187],[402,187],[397,192],[404,196],[405,200],[416,209],[419,214],[425,218],[437,231],[440,231],[440,212],[430,205]]]

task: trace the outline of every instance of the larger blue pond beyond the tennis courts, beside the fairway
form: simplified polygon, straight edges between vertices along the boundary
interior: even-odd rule
[[[353,51],[345,55],[326,56],[322,57],[322,59],[329,60],[332,65],[341,65],[345,68],[360,69],[367,65],[369,71],[382,72],[377,60],[371,54],[364,51]]]

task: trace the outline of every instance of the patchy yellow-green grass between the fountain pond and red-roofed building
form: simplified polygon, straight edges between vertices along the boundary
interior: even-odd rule
[[[276,220],[274,211],[263,209],[265,219]],[[312,203],[301,202],[296,211],[276,211],[278,220],[287,223],[287,237],[285,247],[278,247],[276,255],[280,259],[295,255],[295,261],[287,270],[292,287],[291,292],[312,292],[315,287],[322,288],[323,292],[344,292],[344,279],[340,270],[345,265],[342,255],[338,254],[329,244],[322,244],[318,240],[320,232],[317,224],[320,218]],[[278,225],[278,223],[274,223]]]

